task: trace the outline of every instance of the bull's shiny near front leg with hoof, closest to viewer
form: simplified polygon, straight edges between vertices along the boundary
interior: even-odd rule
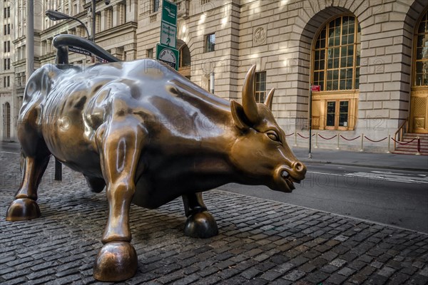
[[[133,118],[118,118],[109,124],[97,136],[107,185],[108,222],[93,277],[100,281],[123,281],[136,274],[138,265],[136,250],[131,245],[129,210],[145,135]]]

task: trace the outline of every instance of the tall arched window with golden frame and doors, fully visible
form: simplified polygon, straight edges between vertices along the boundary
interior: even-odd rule
[[[360,86],[360,25],[339,16],[320,30],[312,47],[312,128],[352,130]]]

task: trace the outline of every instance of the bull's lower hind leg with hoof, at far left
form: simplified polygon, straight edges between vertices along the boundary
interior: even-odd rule
[[[36,138],[31,131],[27,132],[24,138],[20,135],[19,140],[22,147],[21,156],[24,158],[24,165],[21,165],[24,175],[14,202],[7,209],[6,221],[40,217],[39,205],[36,203],[37,188],[51,157],[44,141]]]

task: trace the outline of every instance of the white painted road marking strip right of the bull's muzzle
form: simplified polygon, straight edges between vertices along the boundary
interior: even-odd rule
[[[427,175],[417,175],[417,176],[424,176],[424,177],[417,177],[417,176],[409,176],[409,174],[381,172],[381,171],[352,172],[352,173],[344,173],[344,174],[308,171],[308,173],[341,176],[341,177],[345,177],[345,176],[347,176],[347,177],[364,177],[364,178],[369,178],[369,179],[377,179],[377,180],[384,180],[384,181],[391,181],[391,182],[428,184]]]

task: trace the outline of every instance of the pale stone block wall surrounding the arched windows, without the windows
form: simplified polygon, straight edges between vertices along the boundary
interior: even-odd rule
[[[203,74],[214,70],[215,93],[221,97],[240,98],[251,65],[266,71],[267,90],[277,89],[273,113],[292,133],[308,126],[314,38],[330,19],[355,16],[361,27],[360,95],[357,125],[345,135],[364,133],[379,140],[393,135],[409,116],[413,33],[427,6],[424,0],[212,0],[203,6],[193,0],[188,18],[179,19],[178,38],[190,48],[192,81],[203,86]],[[160,12],[158,21],[149,24],[151,15],[138,16],[138,58],[159,41]],[[264,39],[257,34],[260,29]],[[216,51],[203,53],[203,36],[211,32]]]

